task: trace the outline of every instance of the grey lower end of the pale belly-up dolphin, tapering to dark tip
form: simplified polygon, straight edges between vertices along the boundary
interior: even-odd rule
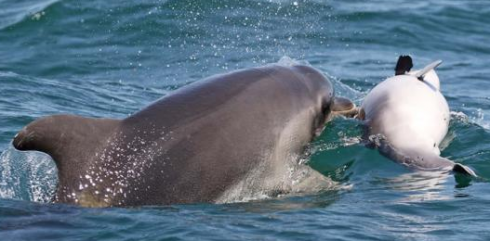
[[[440,157],[432,152],[418,150],[399,150],[394,148],[386,139],[380,136],[371,136],[369,145],[378,149],[385,157],[415,170],[450,170],[472,177],[477,177],[476,173],[460,163],[455,163],[447,158]]]

